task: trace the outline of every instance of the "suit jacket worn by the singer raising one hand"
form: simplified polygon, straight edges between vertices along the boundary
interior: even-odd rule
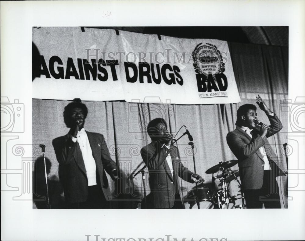
[[[272,150],[267,138],[278,133],[282,129],[282,123],[278,117],[274,114],[267,115],[271,125],[271,130],[268,129],[267,135],[264,138],[257,136],[259,129],[253,129],[252,136],[257,136],[251,139],[251,137],[239,126],[236,126],[234,131],[231,131],[227,135],[227,143],[238,159],[239,174],[242,183],[242,188],[247,189],[260,189],[263,186],[264,177],[264,159],[260,153],[259,148],[265,146],[267,158],[271,170],[275,176],[285,175],[278,167],[278,157]]]

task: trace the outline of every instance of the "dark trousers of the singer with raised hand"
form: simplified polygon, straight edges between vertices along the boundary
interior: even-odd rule
[[[278,184],[271,170],[264,171],[263,186],[257,190],[244,190],[247,208],[281,208]]]

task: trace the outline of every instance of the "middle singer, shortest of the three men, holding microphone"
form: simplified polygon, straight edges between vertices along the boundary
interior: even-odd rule
[[[171,145],[173,135],[168,133],[164,119],[149,122],[147,133],[152,142],[141,149],[148,167],[153,208],[183,208],[178,176],[190,183],[201,183],[203,178],[184,167],[178,148]]]

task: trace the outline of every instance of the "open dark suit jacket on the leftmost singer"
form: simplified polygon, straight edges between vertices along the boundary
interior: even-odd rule
[[[110,175],[113,169],[117,168],[117,165],[110,157],[104,136],[88,131],[86,133],[95,160],[96,181],[107,198],[110,195],[110,190],[105,170]],[[78,142],[74,143],[67,134],[55,138],[52,144],[59,162],[58,174],[64,188],[65,201],[68,203],[86,201],[88,198],[88,179]]]

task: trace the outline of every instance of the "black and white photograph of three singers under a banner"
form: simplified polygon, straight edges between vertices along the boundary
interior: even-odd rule
[[[34,208],[287,208],[288,34],[33,27]]]

